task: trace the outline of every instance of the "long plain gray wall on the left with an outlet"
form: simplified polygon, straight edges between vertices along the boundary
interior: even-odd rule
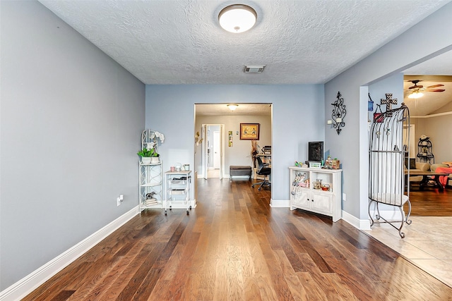
[[[37,1],[0,8],[4,290],[136,207],[145,86]]]

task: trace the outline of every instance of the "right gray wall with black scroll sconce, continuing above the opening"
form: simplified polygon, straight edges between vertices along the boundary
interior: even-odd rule
[[[325,85],[327,107],[338,91],[347,104],[345,129],[337,135],[327,128],[325,139],[326,148],[335,149],[343,163],[343,209],[358,219],[368,219],[367,85],[452,49],[452,35],[444,35],[444,28],[452,27],[450,16],[452,4],[446,4]]]

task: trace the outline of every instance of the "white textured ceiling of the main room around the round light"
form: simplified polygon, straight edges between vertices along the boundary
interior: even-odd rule
[[[218,25],[232,1],[40,0],[150,85],[325,83],[449,1],[239,1],[258,21],[233,34]]]

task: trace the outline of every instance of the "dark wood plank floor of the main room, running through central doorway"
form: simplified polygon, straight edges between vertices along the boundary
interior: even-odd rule
[[[246,180],[198,179],[198,206],[143,211],[24,300],[452,300],[345,221],[270,208]]]

